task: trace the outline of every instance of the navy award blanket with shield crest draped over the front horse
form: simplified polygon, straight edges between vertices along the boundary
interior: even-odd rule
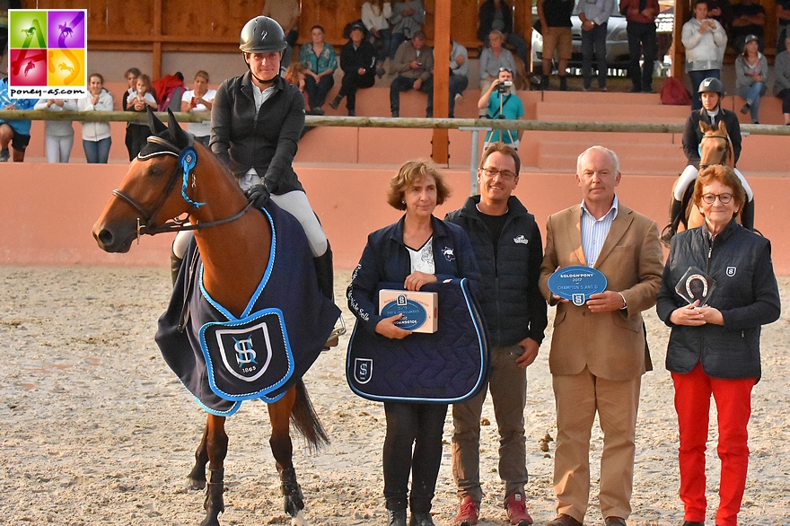
[[[268,267],[241,317],[206,292],[193,239],[154,338],[184,387],[217,416],[233,415],[242,400],[280,399],[318,358],[340,315],[320,293],[302,225],[274,203],[260,211],[272,230]]]

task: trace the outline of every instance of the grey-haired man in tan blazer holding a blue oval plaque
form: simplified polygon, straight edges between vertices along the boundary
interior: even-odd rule
[[[590,494],[590,435],[596,411],[604,434],[599,500],[606,526],[631,513],[636,410],[642,374],[652,369],[642,311],[655,304],[663,252],[658,226],[619,204],[617,155],[592,146],[579,155],[581,205],[550,215],[540,292],[557,304],[549,369],[557,404],[554,490],[549,526],[580,526]],[[597,268],[606,290],[576,306],[549,291],[557,267]]]

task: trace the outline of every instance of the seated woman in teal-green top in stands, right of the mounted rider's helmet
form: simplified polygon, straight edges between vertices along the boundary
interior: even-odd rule
[[[307,66],[304,79],[304,89],[310,103],[310,113],[323,115],[321,106],[327,101],[327,94],[335,85],[335,68],[338,67],[338,57],[335,48],[324,42],[324,28],[320,25],[312,26],[312,41],[302,46],[299,52],[299,62]]]

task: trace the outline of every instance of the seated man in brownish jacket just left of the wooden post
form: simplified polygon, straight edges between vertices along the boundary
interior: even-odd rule
[[[392,71],[398,74],[390,84],[392,117],[400,115],[400,92],[411,89],[428,94],[426,117],[434,117],[434,52],[426,46],[426,34],[417,31],[411,40],[400,44]]]

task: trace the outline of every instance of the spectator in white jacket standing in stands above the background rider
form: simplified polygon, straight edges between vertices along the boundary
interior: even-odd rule
[[[720,22],[707,16],[707,0],[694,2],[694,16],[683,24],[681,33],[686,48],[686,73],[691,81],[691,109],[698,111],[702,101],[697,92],[706,78],[722,78],[722,58],[727,46],[727,33]]]

